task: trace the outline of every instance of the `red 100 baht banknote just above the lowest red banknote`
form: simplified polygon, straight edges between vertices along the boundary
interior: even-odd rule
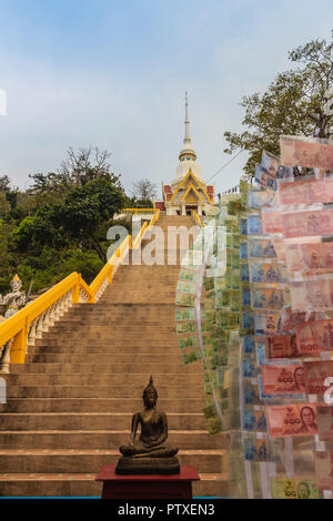
[[[297,395],[305,392],[303,365],[262,366],[264,392],[271,395]]]

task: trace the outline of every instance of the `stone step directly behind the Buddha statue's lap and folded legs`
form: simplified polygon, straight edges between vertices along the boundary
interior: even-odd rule
[[[0,431],[0,449],[117,449],[130,439],[130,430]],[[206,430],[170,430],[168,442],[179,449],[224,449],[225,435]]]

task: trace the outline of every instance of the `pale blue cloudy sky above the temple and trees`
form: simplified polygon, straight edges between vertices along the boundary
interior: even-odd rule
[[[209,180],[242,129],[244,94],[290,68],[287,51],[330,38],[332,0],[0,0],[0,175],[24,187],[70,147],[108,149],[127,190],[174,177],[184,91]],[[238,183],[245,154],[215,177]]]

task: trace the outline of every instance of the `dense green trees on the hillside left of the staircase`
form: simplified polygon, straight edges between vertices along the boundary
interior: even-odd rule
[[[107,232],[113,224],[129,231],[131,221],[112,221],[127,206],[119,176],[110,172],[108,153],[70,150],[61,170],[32,174],[27,192],[0,190],[0,293],[19,274],[36,294],[78,272],[87,283],[105,263]],[[0,178],[1,181],[1,178]],[[1,188],[1,184],[0,184]]]

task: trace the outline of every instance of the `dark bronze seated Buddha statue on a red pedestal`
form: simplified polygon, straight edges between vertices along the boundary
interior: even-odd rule
[[[158,391],[152,377],[143,391],[144,408],[132,417],[131,441],[122,445],[117,473],[178,473],[178,448],[165,443],[168,438],[167,415],[157,409]],[[139,426],[141,433],[137,439]]]

